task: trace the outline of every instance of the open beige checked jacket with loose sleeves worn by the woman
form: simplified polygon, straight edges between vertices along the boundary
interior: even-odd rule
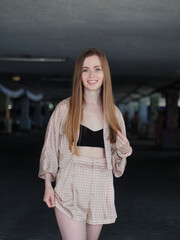
[[[44,179],[45,173],[51,173],[52,181],[55,181],[58,169],[66,167],[74,152],[73,146],[72,152],[69,150],[69,144],[63,132],[63,125],[69,110],[69,100],[70,98],[66,98],[61,101],[49,119],[40,156],[38,173],[40,178]],[[123,133],[126,134],[122,113],[116,106],[115,113]],[[126,158],[131,155],[132,148],[130,147],[130,151],[126,154],[121,154],[120,157],[118,156],[119,152],[117,155],[116,143],[111,144],[108,139],[109,126],[106,118],[104,118],[103,136],[108,170],[112,170],[115,177],[120,177],[125,170]]]

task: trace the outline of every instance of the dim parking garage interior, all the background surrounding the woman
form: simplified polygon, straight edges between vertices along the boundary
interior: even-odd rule
[[[133,149],[100,239],[180,239],[179,12],[176,0],[0,1],[0,239],[61,239],[39,158],[89,47],[107,56]]]

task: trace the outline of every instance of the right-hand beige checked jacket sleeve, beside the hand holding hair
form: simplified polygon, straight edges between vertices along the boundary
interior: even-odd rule
[[[119,123],[124,135],[126,136],[126,127],[125,127],[124,118],[122,116],[121,111],[119,110],[119,108],[117,106],[115,106],[115,113],[116,113],[118,123]],[[128,152],[121,153],[120,151],[117,150],[116,143],[114,143],[114,144],[112,144],[111,150],[112,150],[111,161],[112,161],[113,174],[115,177],[118,178],[118,177],[121,177],[124,173],[124,170],[125,170],[125,167],[127,164],[126,158],[132,154],[132,148],[130,146]]]

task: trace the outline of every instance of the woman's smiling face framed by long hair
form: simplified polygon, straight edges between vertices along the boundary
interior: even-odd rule
[[[104,79],[104,73],[97,55],[85,58],[82,66],[81,79],[85,89],[92,91],[100,90]]]

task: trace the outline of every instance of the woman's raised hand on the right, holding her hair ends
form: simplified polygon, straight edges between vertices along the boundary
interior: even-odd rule
[[[121,152],[122,154],[128,153],[131,149],[129,141],[127,137],[123,134],[122,130],[121,132],[117,130],[116,147],[118,152]]]

